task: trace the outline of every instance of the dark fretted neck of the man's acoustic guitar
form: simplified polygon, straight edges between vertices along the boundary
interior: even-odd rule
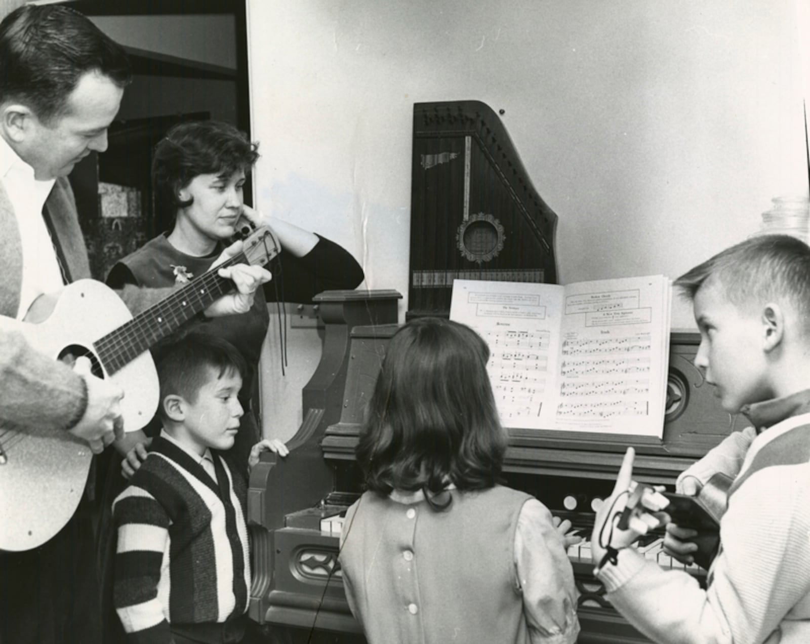
[[[211,268],[115,331],[96,340],[93,346],[107,373],[116,373],[221,296],[232,292],[233,282],[220,277],[219,271],[239,263],[248,263],[244,253]]]

